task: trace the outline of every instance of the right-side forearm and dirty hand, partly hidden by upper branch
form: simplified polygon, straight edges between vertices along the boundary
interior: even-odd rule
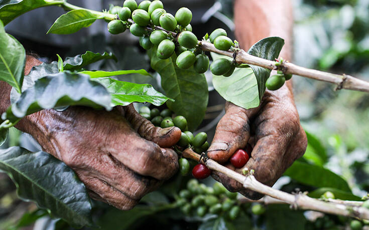
[[[291,9],[288,0],[235,1],[236,38],[242,48],[248,49],[265,37],[279,36],[286,42],[281,56],[290,59]],[[242,172],[242,168],[234,168],[228,159],[237,149],[250,143],[254,149],[243,168],[254,169],[255,177],[271,186],[305,152],[306,135],[300,125],[290,81],[277,91],[267,90],[258,108],[247,110],[227,102],[225,111],[208,156],[228,168]],[[214,172],[213,177],[228,190],[239,191],[253,199],[261,198],[261,194],[245,190],[242,184],[222,173]]]

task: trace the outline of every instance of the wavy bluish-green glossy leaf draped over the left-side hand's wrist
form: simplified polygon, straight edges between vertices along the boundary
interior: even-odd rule
[[[111,110],[111,96],[101,84],[88,75],[64,71],[40,78],[8,108],[6,119],[14,120],[42,109],[83,105]],[[5,119],[4,119],[5,120]]]

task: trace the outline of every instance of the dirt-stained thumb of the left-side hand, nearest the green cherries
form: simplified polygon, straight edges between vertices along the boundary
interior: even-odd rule
[[[120,107],[121,109],[122,107]],[[155,127],[136,111],[133,104],[125,107],[125,116],[135,131],[143,138],[157,143],[160,147],[172,147],[181,138],[181,130],[179,128],[174,126],[165,129]]]

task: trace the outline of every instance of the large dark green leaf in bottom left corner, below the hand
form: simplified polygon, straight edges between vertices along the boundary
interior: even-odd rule
[[[91,225],[86,187],[72,169],[50,154],[21,147],[2,149],[0,170],[12,178],[22,199],[36,202],[74,226]]]

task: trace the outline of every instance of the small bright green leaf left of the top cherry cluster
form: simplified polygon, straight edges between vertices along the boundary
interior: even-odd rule
[[[47,34],[73,34],[84,27],[91,26],[99,18],[99,16],[92,14],[89,10],[79,9],[69,11],[54,22]]]

